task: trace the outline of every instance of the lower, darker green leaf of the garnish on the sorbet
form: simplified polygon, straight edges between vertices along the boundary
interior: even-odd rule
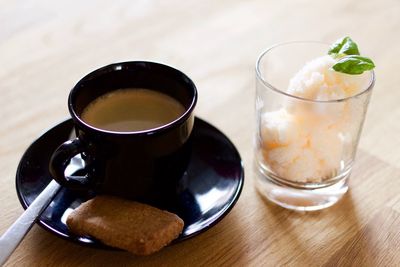
[[[355,75],[361,74],[367,70],[372,70],[374,67],[375,64],[371,59],[357,55],[350,55],[339,59],[332,68],[338,72]]]

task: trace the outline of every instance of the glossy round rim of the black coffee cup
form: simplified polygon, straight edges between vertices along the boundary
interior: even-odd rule
[[[188,84],[190,85],[190,87],[193,90],[193,98],[192,101],[189,105],[188,108],[185,108],[185,112],[179,116],[178,118],[176,118],[175,120],[164,124],[162,126],[156,127],[156,128],[151,128],[151,129],[147,129],[147,130],[141,130],[141,131],[110,131],[110,130],[105,130],[105,129],[101,129],[98,127],[94,127],[88,123],[86,123],[84,120],[82,120],[80,118],[80,116],[77,114],[77,112],[74,109],[74,105],[72,103],[72,98],[74,97],[75,91],[77,90],[76,88],[78,88],[78,85],[83,82],[85,79],[90,78],[90,76],[92,75],[101,75],[105,72],[113,72],[113,71],[120,71],[122,70],[122,66],[123,65],[131,65],[131,64],[135,64],[135,65],[140,65],[140,64],[150,64],[150,65],[155,65],[155,66],[159,66],[162,68],[166,68],[169,69],[173,72],[178,73],[179,75],[181,75],[182,77],[184,77],[184,79],[186,79],[186,81],[188,82]],[[106,66],[103,66],[101,68],[95,69],[91,72],[89,72],[88,74],[86,74],[84,77],[82,77],[72,88],[69,97],[68,97],[68,109],[69,112],[72,116],[72,118],[74,119],[74,121],[78,122],[78,124],[80,124],[81,126],[85,127],[85,128],[89,128],[92,131],[95,132],[100,132],[100,133],[104,133],[104,134],[115,134],[115,135],[152,135],[158,132],[162,132],[165,130],[168,130],[172,127],[174,127],[175,125],[180,125],[183,124],[193,113],[193,110],[196,106],[197,103],[197,98],[198,98],[198,92],[197,92],[197,88],[196,85],[194,84],[194,82],[192,81],[192,79],[190,79],[186,74],[184,74],[182,71],[168,66],[166,64],[162,64],[162,63],[158,63],[158,62],[153,62],[153,61],[124,61],[124,62],[117,62],[117,63],[112,63],[112,64],[108,64]]]

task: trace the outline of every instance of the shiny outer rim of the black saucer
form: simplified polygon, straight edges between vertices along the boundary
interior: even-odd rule
[[[182,236],[182,234],[179,235],[169,245],[177,244],[177,243],[180,243],[182,241],[186,241],[188,239],[191,239],[191,238],[193,238],[193,237],[195,237],[195,236],[197,236],[199,234],[204,233],[205,231],[209,230],[210,228],[212,228],[216,224],[218,224],[223,218],[225,218],[229,214],[229,212],[236,205],[236,203],[239,200],[240,195],[241,195],[241,193],[243,191],[243,187],[244,187],[245,169],[244,169],[243,159],[241,158],[237,147],[217,127],[215,127],[211,123],[207,122],[206,120],[203,120],[203,119],[199,118],[198,116],[195,116],[194,118],[195,118],[194,122],[196,122],[198,120],[198,121],[204,123],[205,125],[207,125],[207,127],[212,128],[213,131],[217,132],[218,135],[224,137],[224,139],[226,141],[228,141],[230,146],[233,148],[237,158],[239,159],[241,172],[240,172],[240,175],[238,176],[238,182],[237,182],[237,185],[235,187],[234,194],[232,195],[231,201],[227,201],[227,203],[224,205],[224,209],[220,212],[218,217],[214,221],[212,221],[211,223],[209,223],[206,226],[204,226],[203,228],[201,228],[200,230],[197,230],[197,231],[195,231],[195,232],[193,232],[191,234],[188,234],[186,236]],[[23,195],[22,191],[20,190],[20,187],[21,187],[21,181],[20,180],[21,179],[18,178],[18,177],[21,177],[20,172],[21,172],[21,169],[23,168],[23,166],[22,166],[23,165],[23,159],[25,159],[27,157],[27,154],[30,152],[30,150],[36,144],[36,142],[38,142],[42,138],[45,138],[45,135],[48,134],[51,130],[55,129],[56,127],[60,127],[60,126],[62,126],[64,124],[70,124],[71,125],[71,127],[70,127],[71,131],[73,130],[74,126],[73,126],[73,119],[72,118],[67,118],[67,119],[59,121],[58,123],[55,123],[53,126],[49,127],[47,130],[44,130],[37,138],[34,139],[34,141],[32,141],[30,143],[30,145],[25,149],[23,155],[21,156],[21,158],[19,160],[17,171],[16,171],[15,188],[16,188],[16,193],[17,193],[17,196],[18,196],[18,200],[19,200],[21,206],[24,208],[24,210],[26,210],[29,207],[29,205],[27,204],[26,195]],[[46,186],[47,186],[47,184],[45,185],[45,187]],[[61,188],[59,189],[57,194],[54,196],[54,198],[64,189],[65,188],[61,186]],[[32,204],[32,203],[30,203],[30,204]],[[61,239],[64,239],[64,240],[69,241],[69,242],[73,242],[75,244],[79,244],[79,245],[84,246],[84,247],[92,247],[92,248],[96,248],[96,249],[105,249],[105,250],[120,250],[118,248],[114,248],[114,247],[105,245],[101,241],[96,240],[93,237],[90,238],[91,242],[84,242],[84,241],[81,240],[81,238],[84,238],[83,236],[66,235],[65,233],[59,231],[58,229],[55,229],[55,228],[51,227],[50,225],[46,224],[43,220],[41,220],[40,217],[41,217],[41,215],[38,216],[37,220],[35,221],[35,224],[39,225],[42,229],[46,230],[47,232],[49,232],[52,235],[55,235],[55,236],[57,236],[57,237],[59,237]]]

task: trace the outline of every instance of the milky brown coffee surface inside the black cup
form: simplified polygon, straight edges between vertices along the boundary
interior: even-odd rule
[[[169,95],[142,88],[118,89],[93,100],[82,112],[99,129],[135,132],[158,128],[179,118],[183,105]]]

